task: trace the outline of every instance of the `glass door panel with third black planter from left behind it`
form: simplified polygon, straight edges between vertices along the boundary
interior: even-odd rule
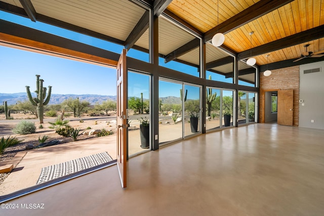
[[[222,91],[222,127],[233,126],[233,95],[231,90]]]

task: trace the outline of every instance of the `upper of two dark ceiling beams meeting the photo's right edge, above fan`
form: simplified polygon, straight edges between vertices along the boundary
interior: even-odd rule
[[[317,26],[315,28],[311,28],[306,31],[299,32],[297,34],[293,34],[278,40],[274,40],[267,44],[261,45],[259,47],[255,47],[243,52],[238,53],[238,59],[246,59],[252,56],[259,56],[265,53],[270,53],[276,50],[281,50],[287,47],[292,47],[295,45],[302,44],[303,42],[308,42],[311,40],[315,40],[321,37],[324,37],[324,25]]]

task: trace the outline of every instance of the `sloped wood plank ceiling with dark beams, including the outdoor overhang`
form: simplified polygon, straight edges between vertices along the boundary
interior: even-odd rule
[[[228,56],[209,44],[218,31],[225,34],[223,49],[240,60],[255,56],[259,66],[292,62],[305,51],[305,44],[310,45],[308,51],[313,53],[324,51],[324,0],[0,1],[0,10],[143,51],[149,48],[147,8],[153,8],[156,16],[162,15],[159,53],[166,61],[176,58],[199,64],[199,40],[165,17],[171,17],[208,42],[207,64],[210,65]],[[251,31],[254,31],[252,36]],[[265,55],[270,56],[267,59]],[[222,72],[231,69],[229,65]]]

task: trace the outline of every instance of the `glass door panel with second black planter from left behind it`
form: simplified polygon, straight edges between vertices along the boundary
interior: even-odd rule
[[[182,101],[184,101],[184,136],[200,132],[200,88],[184,85]]]

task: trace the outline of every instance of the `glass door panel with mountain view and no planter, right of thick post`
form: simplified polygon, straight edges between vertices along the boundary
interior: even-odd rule
[[[182,83],[159,80],[159,144],[182,139]]]

